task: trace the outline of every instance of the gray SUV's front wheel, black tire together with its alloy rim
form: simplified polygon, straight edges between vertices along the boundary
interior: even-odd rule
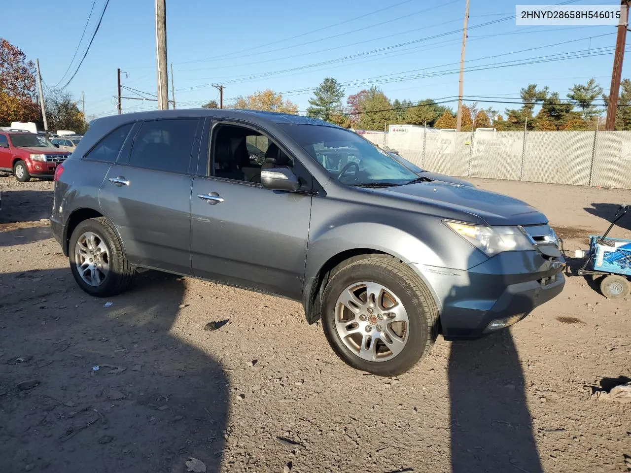
[[[369,292],[380,296],[370,303]],[[329,345],[348,365],[378,376],[396,376],[430,351],[438,335],[439,312],[410,267],[389,257],[369,257],[333,274],[322,294],[322,327]]]

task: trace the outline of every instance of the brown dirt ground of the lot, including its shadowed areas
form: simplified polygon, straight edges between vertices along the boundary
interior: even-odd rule
[[[543,210],[570,256],[631,204],[475,182]],[[439,337],[410,373],[378,378],[339,361],[293,301],[156,272],[87,296],[50,237],[52,188],[0,177],[1,472],[185,472],[191,457],[208,472],[631,471],[631,404],[592,395],[631,378],[631,300],[569,276],[512,329]]]

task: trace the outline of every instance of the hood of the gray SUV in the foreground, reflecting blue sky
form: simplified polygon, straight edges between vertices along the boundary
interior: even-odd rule
[[[544,214],[526,202],[476,187],[435,181],[366,190],[413,199],[424,204],[431,204],[432,202],[449,204],[456,210],[478,216],[488,225],[539,225],[548,223]]]

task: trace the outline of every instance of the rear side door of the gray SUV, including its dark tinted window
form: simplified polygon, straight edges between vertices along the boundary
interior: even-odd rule
[[[100,206],[132,264],[191,274],[191,156],[201,124],[178,118],[134,125],[103,180]]]

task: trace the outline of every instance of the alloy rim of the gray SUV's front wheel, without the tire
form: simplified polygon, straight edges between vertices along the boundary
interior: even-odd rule
[[[408,342],[408,312],[401,299],[382,284],[351,284],[339,295],[334,315],[339,339],[366,361],[392,359]]]

